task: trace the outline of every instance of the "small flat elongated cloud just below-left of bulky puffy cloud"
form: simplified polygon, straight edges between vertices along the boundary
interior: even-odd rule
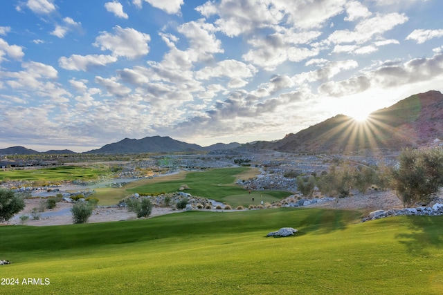
[[[111,55],[71,55],[71,57],[60,57],[58,64],[65,70],[84,70],[98,66],[106,66],[117,61],[117,57]]]

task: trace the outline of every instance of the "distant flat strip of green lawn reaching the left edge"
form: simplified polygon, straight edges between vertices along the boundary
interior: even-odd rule
[[[98,175],[107,173],[105,169],[91,169],[78,166],[57,166],[44,169],[8,169],[0,170],[0,180],[77,180],[77,179],[94,179]]]

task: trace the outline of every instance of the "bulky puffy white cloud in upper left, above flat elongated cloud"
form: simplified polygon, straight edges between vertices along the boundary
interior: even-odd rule
[[[109,32],[100,32],[93,44],[101,50],[110,50],[113,55],[135,59],[149,53],[148,42],[150,35],[138,32],[134,28],[114,27],[114,35]]]

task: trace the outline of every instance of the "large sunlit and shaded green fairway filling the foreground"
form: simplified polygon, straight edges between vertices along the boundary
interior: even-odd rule
[[[0,294],[441,294],[442,217],[358,211],[184,212],[0,227]],[[289,238],[265,238],[280,227]],[[48,285],[24,285],[48,278]]]

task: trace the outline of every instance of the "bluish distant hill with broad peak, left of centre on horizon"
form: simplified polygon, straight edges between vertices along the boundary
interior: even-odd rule
[[[198,144],[188,144],[173,140],[169,136],[145,137],[141,140],[125,138],[120,142],[106,144],[100,149],[94,149],[85,153],[173,153],[177,151],[202,151]]]

